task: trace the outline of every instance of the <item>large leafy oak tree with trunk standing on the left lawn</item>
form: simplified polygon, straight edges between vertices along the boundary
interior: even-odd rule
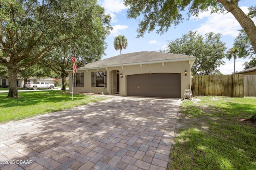
[[[0,63],[8,68],[8,97],[18,97],[17,73],[70,40],[101,46],[110,16],[96,0],[0,0]],[[97,44],[97,42],[100,42]]]

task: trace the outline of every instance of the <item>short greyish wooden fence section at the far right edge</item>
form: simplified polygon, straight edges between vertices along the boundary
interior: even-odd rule
[[[244,96],[256,96],[256,75],[244,75]]]

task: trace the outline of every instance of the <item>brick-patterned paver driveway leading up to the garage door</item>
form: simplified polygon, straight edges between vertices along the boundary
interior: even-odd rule
[[[179,106],[178,99],[112,96],[0,124],[0,169],[165,170]]]

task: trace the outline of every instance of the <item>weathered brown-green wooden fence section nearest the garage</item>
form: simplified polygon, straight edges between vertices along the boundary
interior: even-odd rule
[[[193,95],[244,97],[243,74],[194,76]]]

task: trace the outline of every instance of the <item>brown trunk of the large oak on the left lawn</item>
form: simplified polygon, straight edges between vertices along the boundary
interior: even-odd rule
[[[7,98],[18,98],[17,68],[8,68],[9,93]]]

